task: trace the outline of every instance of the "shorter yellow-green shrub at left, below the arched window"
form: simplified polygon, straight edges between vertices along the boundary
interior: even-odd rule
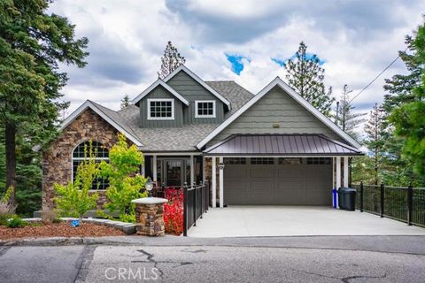
[[[78,165],[74,181],[69,181],[66,186],[54,184],[57,197],[54,201],[58,214],[66,217],[79,218],[80,222],[88,210],[97,206],[97,194],[89,194],[93,181],[99,176],[98,164],[90,145],[85,149],[86,159]]]

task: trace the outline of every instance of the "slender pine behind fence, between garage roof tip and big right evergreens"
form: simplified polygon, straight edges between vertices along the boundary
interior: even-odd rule
[[[365,133],[367,134],[365,143],[367,149],[371,150],[373,155],[375,185],[379,183],[379,170],[383,162],[383,113],[383,108],[375,103],[373,110],[370,111],[367,124],[365,125]]]

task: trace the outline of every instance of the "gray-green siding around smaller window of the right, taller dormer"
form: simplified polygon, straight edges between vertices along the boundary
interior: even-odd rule
[[[166,83],[190,103],[189,107],[184,108],[183,112],[185,124],[220,124],[224,121],[224,103],[184,71],[177,73],[173,79]],[[216,106],[215,118],[195,118],[195,101],[197,100],[214,100]]]

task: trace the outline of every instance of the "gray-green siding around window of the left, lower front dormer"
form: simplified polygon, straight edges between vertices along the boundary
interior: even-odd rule
[[[171,98],[174,99],[174,120],[148,120],[148,99],[151,98]],[[163,88],[158,86],[151,93],[144,96],[140,101],[140,126],[141,127],[179,127],[183,126],[183,107],[186,107],[177,97],[173,96]]]

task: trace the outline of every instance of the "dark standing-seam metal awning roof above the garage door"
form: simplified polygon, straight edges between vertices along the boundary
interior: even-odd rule
[[[359,149],[323,134],[235,134],[205,149],[207,156],[357,156]]]

